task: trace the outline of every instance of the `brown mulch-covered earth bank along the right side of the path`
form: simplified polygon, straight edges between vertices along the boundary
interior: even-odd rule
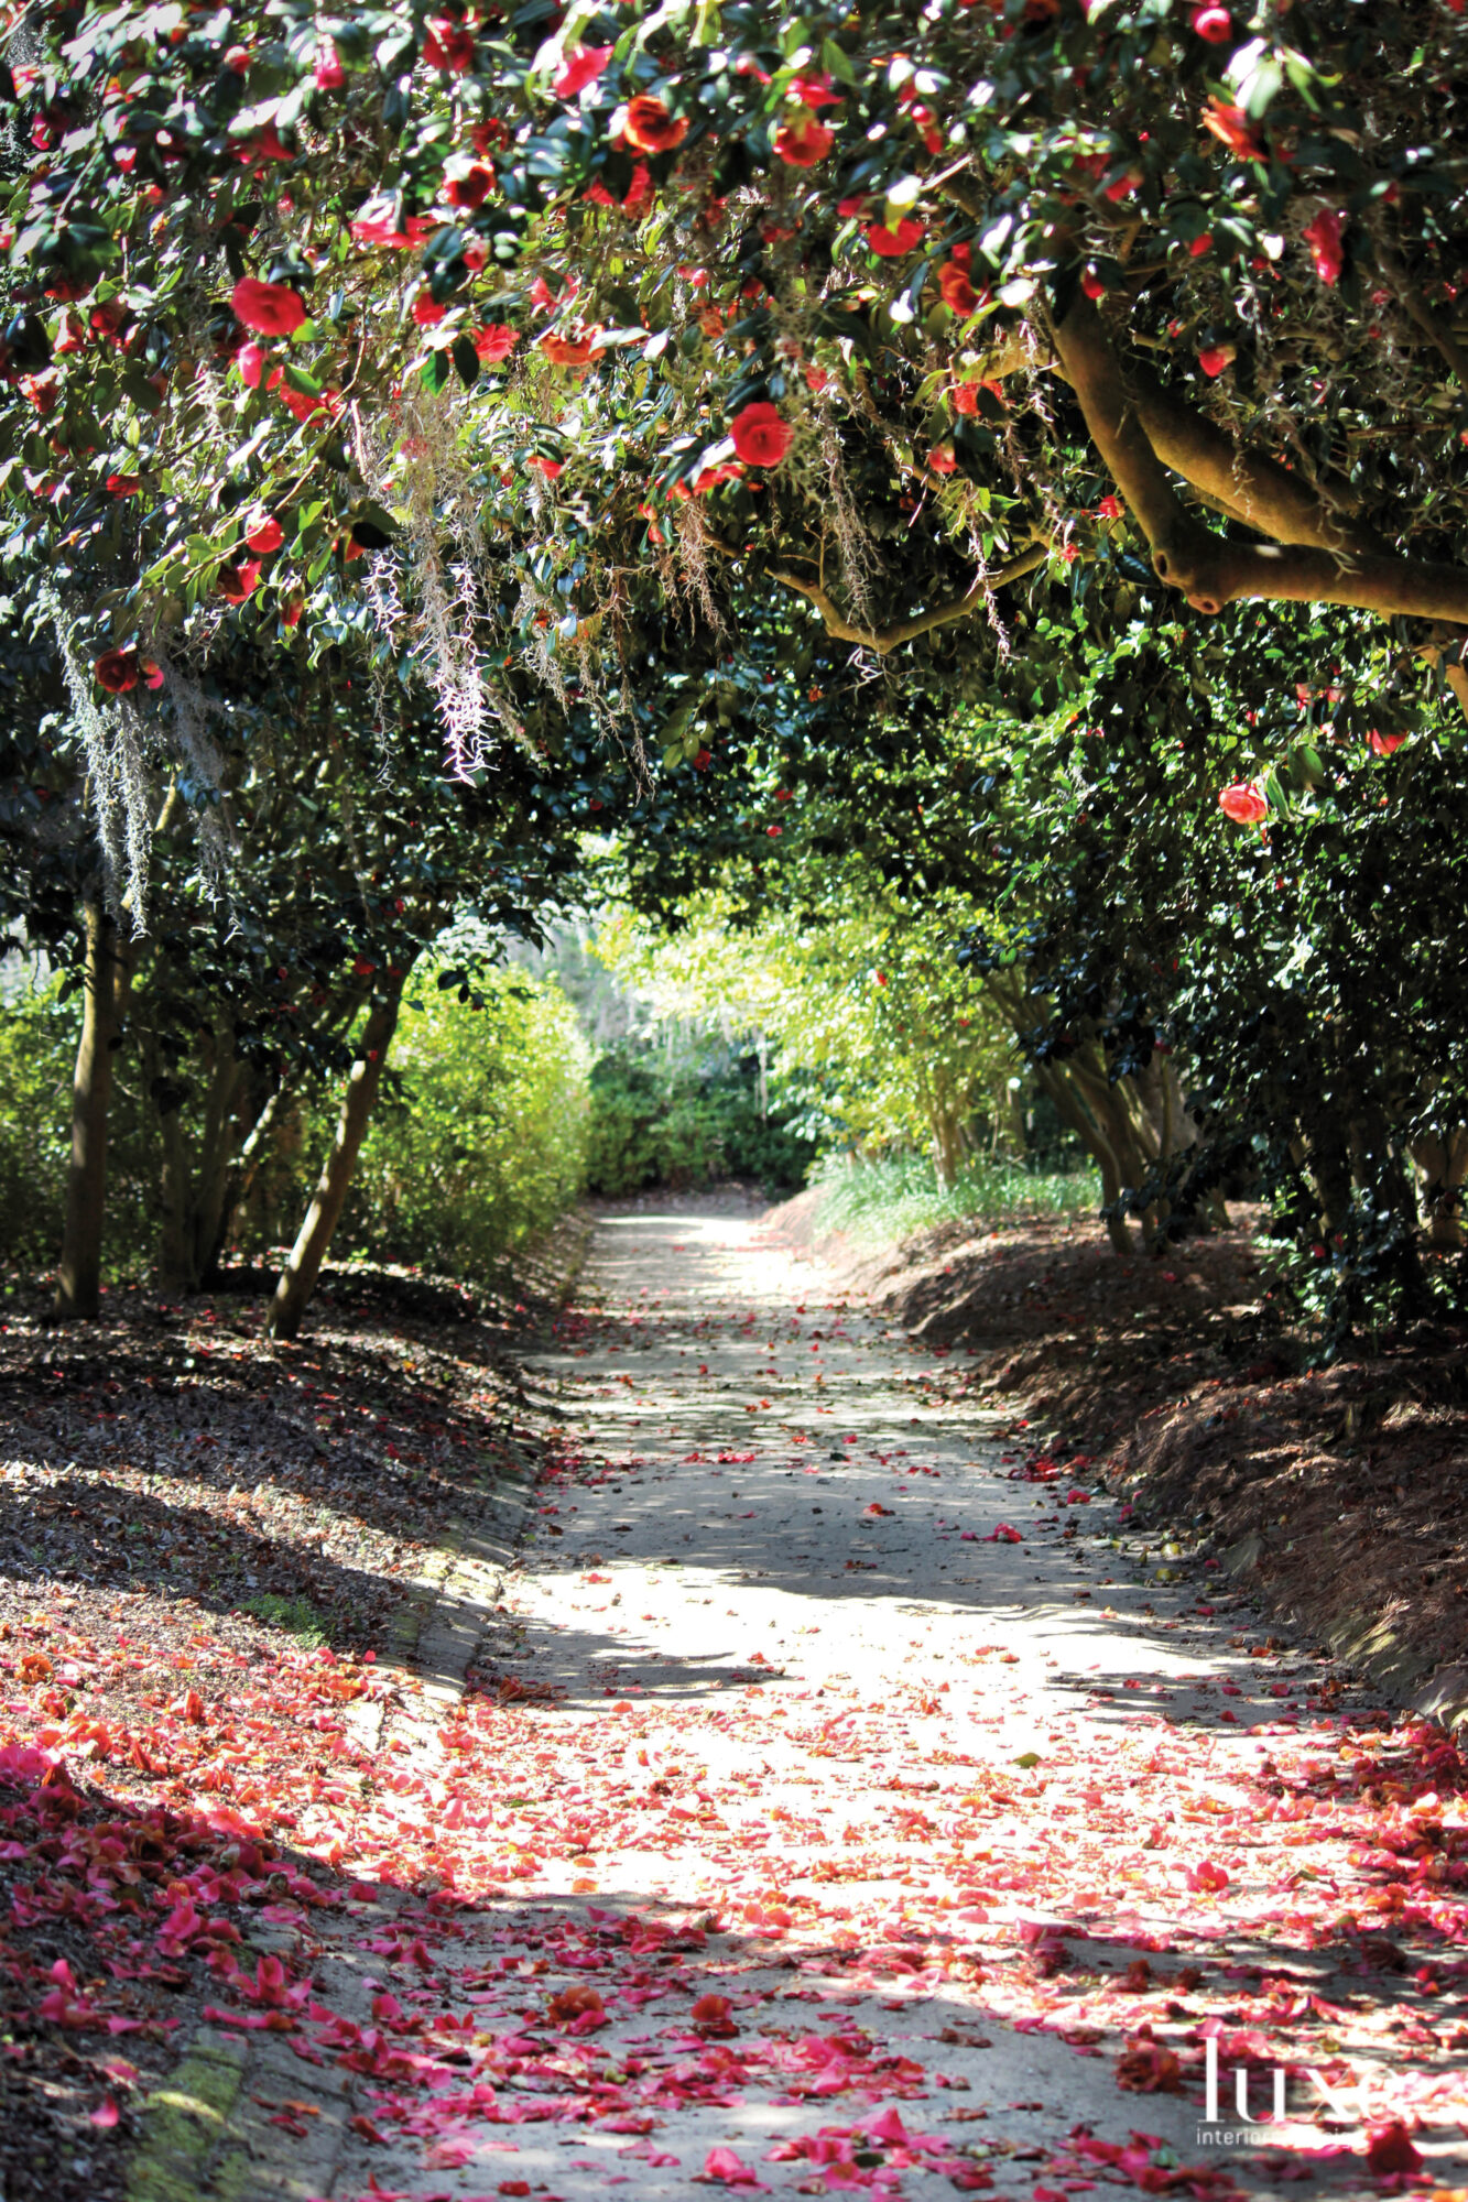
[[[913,1334],[926,1400],[1014,1409],[1040,1473],[1087,1469],[1162,1533],[1159,1561],[1228,1581],[1402,1704],[1468,1720],[1468,1326],[1417,1323],[1329,1367],[1274,1290],[1259,1218],[1162,1260],[1093,1222],[941,1224],[873,1249],[782,1244]]]

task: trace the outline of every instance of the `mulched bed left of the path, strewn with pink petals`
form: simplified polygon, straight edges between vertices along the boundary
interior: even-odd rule
[[[269,1284],[115,1290],[73,1326],[24,1282],[0,1304],[7,2202],[121,2195],[137,2105],[234,1964],[229,1927],[159,1942],[181,1881],[201,1911],[337,1900],[201,1808],[212,1755],[236,1799],[350,1788],[412,1579],[538,1456],[514,1343],[555,1277],[342,1271],[295,1345],[262,1339]]]

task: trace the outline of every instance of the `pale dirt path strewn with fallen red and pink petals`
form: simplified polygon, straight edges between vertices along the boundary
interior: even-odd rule
[[[604,1220],[432,1746],[456,1863],[315,2032],[366,2074],[333,2198],[1461,2184],[1457,1753],[930,1365],[749,1211]],[[1223,2143],[1272,2065],[1334,2107]]]

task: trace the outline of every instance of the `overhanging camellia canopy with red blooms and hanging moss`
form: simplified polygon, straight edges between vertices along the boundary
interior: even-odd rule
[[[648,597],[983,650],[1118,537],[1461,685],[1466,57],[1435,0],[31,11],[11,544],[126,553],[104,687],[229,606],[410,632],[456,768],[507,658],[615,727]]]

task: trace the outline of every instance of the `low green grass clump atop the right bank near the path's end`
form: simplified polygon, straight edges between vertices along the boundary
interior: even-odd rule
[[[1012,1224],[1025,1216],[1093,1216],[1100,1176],[1093,1169],[1025,1169],[1023,1163],[976,1160],[952,1185],[939,1185],[928,1156],[875,1160],[829,1156],[811,1178],[820,1187],[818,1231],[842,1231],[890,1244],[935,1224]]]

